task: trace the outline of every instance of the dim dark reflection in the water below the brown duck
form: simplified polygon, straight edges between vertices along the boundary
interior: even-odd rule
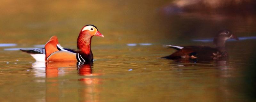
[[[232,59],[223,58],[223,59],[215,59],[215,60],[195,60],[195,59],[179,59],[179,60],[171,60],[174,69],[178,69],[178,73],[183,77],[207,77],[211,80],[208,82],[202,78],[198,80],[204,80],[203,82],[208,82],[209,85],[216,85],[212,95],[217,97],[217,100],[232,100],[229,96],[236,93],[236,90],[232,89],[234,82],[233,77],[237,76],[236,74],[236,66],[233,65],[229,61]],[[207,87],[204,86],[204,87]],[[211,89],[211,88],[209,88]],[[209,91],[207,88],[205,91]],[[211,91],[211,90],[210,90]],[[217,94],[216,94],[217,93]],[[236,93],[237,94],[237,93]]]

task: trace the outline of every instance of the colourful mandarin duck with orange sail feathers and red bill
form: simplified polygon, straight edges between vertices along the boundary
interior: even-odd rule
[[[30,54],[36,62],[92,62],[91,40],[94,35],[104,37],[96,26],[85,25],[77,38],[78,50],[61,47],[57,36],[52,36],[44,48],[20,50]]]

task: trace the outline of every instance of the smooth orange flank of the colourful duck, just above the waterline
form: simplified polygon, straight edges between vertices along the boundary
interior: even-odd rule
[[[76,54],[68,51],[53,52],[46,60],[50,62],[77,62]]]

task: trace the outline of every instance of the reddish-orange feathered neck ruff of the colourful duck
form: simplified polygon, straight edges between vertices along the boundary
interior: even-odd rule
[[[90,55],[91,54],[91,41],[92,36],[87,34],[79,34],[77,38],[77,49],[80,50],[80,54]]]

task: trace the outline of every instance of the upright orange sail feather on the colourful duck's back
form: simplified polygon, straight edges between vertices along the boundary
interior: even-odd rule
[[[59,43],[57,36],[52,36],[52,38],[45,44],[45,59],[48,58],[52,53],[59,51],[56,47]]]

